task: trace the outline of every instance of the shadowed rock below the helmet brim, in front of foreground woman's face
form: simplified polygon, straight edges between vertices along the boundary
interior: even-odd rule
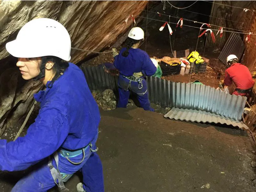
[[[0,76],[0,88],[1,135],[6,127],[14,126],[19,118],[29,111],[34,93],[42,89],[43,85],[33,80],[25,82],[17,68],[9,68]]]

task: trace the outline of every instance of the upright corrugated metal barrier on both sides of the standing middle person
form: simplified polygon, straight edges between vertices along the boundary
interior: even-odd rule
[[[91,90],[117,91],[117,76],[107,74],[102,66],[82,68]],[[245,100],[241,96],[200,84],[175,83],[157,77],[148,77],[149,100],[162,107],[196,109],[240,120]]]

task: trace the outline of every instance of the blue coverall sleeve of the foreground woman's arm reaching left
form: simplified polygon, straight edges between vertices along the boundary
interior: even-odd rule
[[[54,153],[68,136],[65,107],[51,102],[41,108],[25,137],[15,141],[0,140],[0,170],[20,171]]]

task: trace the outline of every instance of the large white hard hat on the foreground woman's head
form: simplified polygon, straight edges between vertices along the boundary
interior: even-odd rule
[[[71,59],[71,40],[67,29],[58,21],[48,18],[38,18],[26,23],[16,39],[5,47],[14,57],[55,56],[65,61]]]

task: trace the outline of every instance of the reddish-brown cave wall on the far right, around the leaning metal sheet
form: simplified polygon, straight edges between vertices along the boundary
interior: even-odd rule
[[[218,18],[225,18],[225,19],[219,20],[216,18],[211,18],[210,19],[211,24],[215,24],[219,26],[221,25],[223,27],[235,28],[235,29],[240,29],[243,31],[255,33],[256,12],[251,11],[251,10],[256,10],[255,1],[215,1],[215,2],[220,4],[230,5],[233,7],[213,4],[211,16],[218,17]],[[250,10],[245,12],[243,9],[238,9],[235,7],[243,7]],[[229,20],[233,20],[234,22]],[[212,49],[219,48],[219,50],[221,51],[230,34],[231,33],[228,33],[228,35],[225,35],[225,32],[224,32],[222,39],[216,37],[215,44],[213,44],[211,41],[208,41],[210,42],[208,44],[208,47],[211,47]],[[241,38],[245,39],[246,36],[247,35],[241,35]],[[250,38],[250,42],[246,42],[244,40],[244,44],[245,44],[245,50],[244,50],[244,56],[242,58],[241,63],[246,65],[251,71],[251,73],[253,74],[253,72],[255,72],[256,70],[256,64],[255,64],[256,50],[254,48],[256,44],[256,36],[252,35]],[[254,85],[253,93],[254,93],[253,95],[254,105],[252,106],[252,109],[256,111],[256,85]],[[251,112],[249,115],[245,117],[245,122],[253,131],[254,137],[256,138],[256,114],[254,112]]]

